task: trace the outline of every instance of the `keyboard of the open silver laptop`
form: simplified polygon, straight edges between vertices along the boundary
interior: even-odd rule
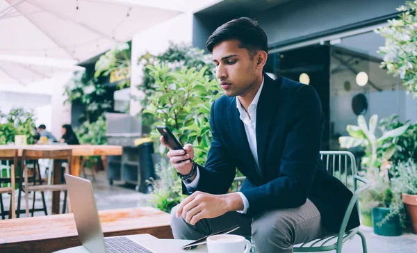
[[[153,253],[142,245],[133,242],[133,240],[121,236],[121,237],[109,237],[104,238],[106,243],[106,250],[109,253],[119,253],[119,252],[138,252],[138,253]]]

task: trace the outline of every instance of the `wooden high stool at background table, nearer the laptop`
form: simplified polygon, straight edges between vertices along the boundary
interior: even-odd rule
[[[48,149],[23,149],[22,151],[22,164],[26,160],[35,160],[39,158],[49,158],[49,159],[63,159],[68,161],[67,168],[65,168],[65,171],[67,173],[71,173],[71,163],[72,163],[72,150],[71,149],[61,149],[61,150],[48,150]],[[31,186],[28,185],[28,177],[27,177],[27,171],[28,168],[26,166],[22,166],[21,168],[21,174],[24,175],[24,191],[25,191],[25,201],[26,201],[26,216],[29,215],[29,209],[28,209],[28,193],[33,191],[33,206],[35,204],[35,192],[40,191],[42,194],[44,191],[65,191],[65,197],[64,197],[64,204],[63,204],[63,213],[65,213],[66,205],[67,205],[67,185],[65,183],[59,183],[59,184],[42,184],[42,180],[40,180],[40,184],[36,185],[35,183]],[[40,177],[40,175],[39,175]],[[59,175],[60,177],[60,175]],[[20,183],[22,185],[22,177],[20,177]],[[17,202],[17,210],[18,213],[20,211],[20,196],[21,196],[21,190],[19,190],[19,196],[18,196],[18,202]],[[44,201],[44,199],[43,199]],[[44,205],[45,206],[45,205]],[[33,216],[32,209],[32,216]],[[45,210],[45,214],[47,215],[47,211]]]

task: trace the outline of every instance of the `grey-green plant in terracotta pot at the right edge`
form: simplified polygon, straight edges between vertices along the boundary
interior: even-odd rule
[[[417,165],[410,158],[408,161],[398,163],[395,168],[395,177],[392,179],[393,189],[401,196],[407,213],[411,218],[414,234],[417,234]],[[401,206],[402,207],[402,206]],[[402,209],[398,211],[401,213]]]

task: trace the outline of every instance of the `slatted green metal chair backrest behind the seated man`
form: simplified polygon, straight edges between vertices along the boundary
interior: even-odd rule
[[[326,170],[339,179],[353,192],[357,190],[356,159],[348,151],[320,151],[320,158]]]

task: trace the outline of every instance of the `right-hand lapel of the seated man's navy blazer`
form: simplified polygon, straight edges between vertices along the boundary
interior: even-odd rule
[[[258,149],[259,167],[265,176],[265,156],[268,147],[268,136],[272,131],[272,120],[278,108],[277,91],[281,82],[274,81],[263,73],[264,82],[258,106],[256,106],[256,146]]]

